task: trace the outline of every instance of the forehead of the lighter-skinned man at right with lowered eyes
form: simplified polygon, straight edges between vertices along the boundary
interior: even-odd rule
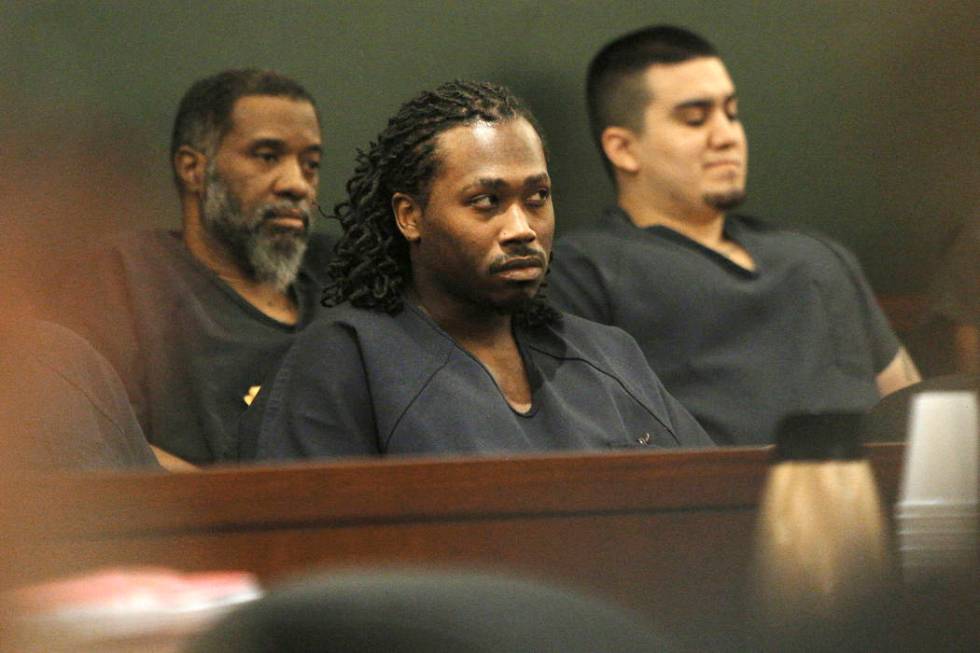
[[[654,64],[644,72],[650,106],[674,107],[695,99],[725,98],[735,84],[718,57],[699,57],[676,64]]]

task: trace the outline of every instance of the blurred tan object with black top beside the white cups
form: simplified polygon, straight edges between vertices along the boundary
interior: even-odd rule
[[[892,561],[859,415],[783,421],[759,509],[751,610],[766,650],[872,650]]]

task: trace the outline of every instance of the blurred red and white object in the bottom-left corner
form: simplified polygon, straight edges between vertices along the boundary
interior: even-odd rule
[[[3,651],[178,651],[233,606],[259,598],[251,574],[107,569],[4,596]]]

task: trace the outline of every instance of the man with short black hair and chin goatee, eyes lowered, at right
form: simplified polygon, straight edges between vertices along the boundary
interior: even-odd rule
[[[710,43],[671,26],[622,36],[587,95],[618,202],[557,244],[552,296],[633,335],[712,438],[769,444],[787,415],[863,411],[919,380],[850,252],[730,213],[748,145]]]

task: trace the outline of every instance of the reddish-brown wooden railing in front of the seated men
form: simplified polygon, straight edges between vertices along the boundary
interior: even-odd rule
[[[894,500],[900,445],[869,447]],[[584,589],[731,647],[766,449],[351,461],[0,481],[9,583],[105,565],[466,566]]]

